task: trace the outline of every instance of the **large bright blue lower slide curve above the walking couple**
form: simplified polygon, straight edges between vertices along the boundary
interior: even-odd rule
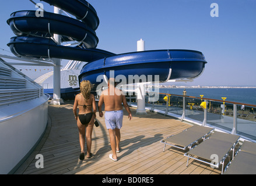
[[[107,78],[120,78],[121,84],[196,78],[205,68],[206,60],[199,51],[168,49],[130,52],[99,59],[83,66],[79,81],[103,83]],[[125,81],[125,82],[123,82]],[[95,87],[95,86],[94,86]],[[96,88],[96,87],[95,87]]]

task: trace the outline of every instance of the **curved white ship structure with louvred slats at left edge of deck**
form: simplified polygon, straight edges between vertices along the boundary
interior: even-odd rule
[[[50,95],[2,58],[0,72],[0,174],[7,174],[15,171],[41,140]]]

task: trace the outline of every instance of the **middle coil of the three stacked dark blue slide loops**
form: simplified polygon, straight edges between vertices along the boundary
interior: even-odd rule
[[[34,10],[13,12],[7,20],[16,35],[34,35],[38,37],[52,37],[53,34],[62,36],[64,41],[79,41],[86,48],[96,48],[99,39],[95,31],[87,24],[55,13],[44,12],[43,17],[37,17]]]

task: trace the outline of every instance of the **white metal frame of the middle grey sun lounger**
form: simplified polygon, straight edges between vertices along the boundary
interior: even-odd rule
[[[221,133],[221,132],[215,132],[215,133]],[[209,138],[211,138],[211,137],[206,138],[206,140],[208,140]],[[205,141],[206,141],[206,140],[205,140]],[[190,151],[189,151],[189,152],[187,152],[187,153],[184,154],[184,156],[187,156],[187,157],[188,157],[188,159],[187,159],[187,166],[188,166],[188,160],[191,158],[191,159],[197,160],[197,161],[199,161],[199,162],[209,164],[212,168],[217,168],[217,169],[218,169],[218,168],[222,165],[222,174],[223,174],[223,169],[224,169],[225,160],[226,160],[227,157],[229,157],[229,162],[230,162],[230,152],[232,152],[232,151],[233,151],[233,153],[232,153],[232,159],[234,158],[234,153],[235,153],[235,152],[234,152],[234,149],[235,149],[235,147],[237,146],[237,144],[239,144],[239,140],[240,140],[240,137],[237,136],[237,140],[234,141],[234,143],[233,143],[233,145],[232,145],[232,147],[231,147],[230,149],[227,149],[227,152],[226,152],[225,156],[223,156],[223,157],[219,160],[219,162],[215,162],[214,158],[213,158],[213,160],[212,160],[211,162],[208,162],[207,159],[202,160],[202,159],[204,159],[204,158],[202,158],[202,157],[198,157],[198,156],[197,156],[197,158],[195,158],[194,155],[191,155],[191,154],[190,154]],[[194,148],[197,148],[197,145],[194,146],[192,149],[194,149]],[[192,149],[191,149],[191,150],[192,150]],[[237,151],[238,151],[238,150],[237,150]],[[214,157],[214,156],[213,156],[213,157]],[[198,159],[198,158],[201,158],[201,159]]]

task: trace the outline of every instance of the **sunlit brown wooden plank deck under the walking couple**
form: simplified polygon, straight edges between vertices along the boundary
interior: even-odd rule
[[[160,140],[191,127],[190,124],[152,112],[147,116],[135,115],[132,108],[131,121],[124,111],[118,161],[108,158],[111,153],[108,131],[104,117],[100,118],[98,113],[100,126],[93,128],[94,156],[80,161],[78,128],[72,108],[73,101],[48,106],[47,131],[16,174],[220,174],[219,169],[193,160],[187,167],[187,158],[179,149],[167,146],[163,152]],[[43,155],[44,168],[36,168],[37,154]]]

